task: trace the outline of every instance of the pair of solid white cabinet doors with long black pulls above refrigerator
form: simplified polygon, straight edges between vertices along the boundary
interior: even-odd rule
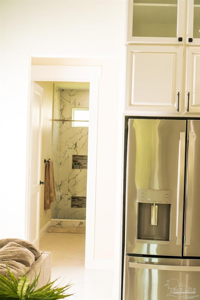
[[[199,114],[200,47],[127,46],[125,111]]]

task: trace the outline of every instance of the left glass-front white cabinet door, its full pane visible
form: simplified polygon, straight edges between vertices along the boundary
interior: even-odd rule
[[[183,0],[128,0],[127,43],[182,44],[184,18]]]

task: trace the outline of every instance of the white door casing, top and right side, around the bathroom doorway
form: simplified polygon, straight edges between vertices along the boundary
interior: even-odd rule
[[[95,199],[97,173],[98,86],[99,80],[101,79],[101,72],[101,66],[31,66],[31,81],[90,83],[85,239],[85,268],[88,269],[96,268],[94,258]]]

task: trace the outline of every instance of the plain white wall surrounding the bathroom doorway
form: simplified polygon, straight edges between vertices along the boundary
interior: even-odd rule
[[[125,6],[125,0],[1,1],[0,211],[3,214],[0,238],[26,237],[27,109],[31,57],[107,60],[115,57],[118,61],[116,66],[110,63],[108,70],[108,62],[105,67],[102,65],[102,74],[109,71],[109,77],[107,82],[99,85],[95,215],[96,258],[114,258],[115,239],[119,239],[115,224],[121,221],[119,208],[122,200],[116,183],[121,182],[122,175],[117,171],[122,170]],[[87,59],[85,62],[87,64]],[[107,207],[106,212],[102,209],[103,205]]]

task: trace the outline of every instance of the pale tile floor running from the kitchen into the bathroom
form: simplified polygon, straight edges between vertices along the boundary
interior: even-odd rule
[[[40,250],[52,253],[51,280],[73,286],[69,300],[112,300],[113,271],[84,268],[85,234],[46,233],[40,239]]]

